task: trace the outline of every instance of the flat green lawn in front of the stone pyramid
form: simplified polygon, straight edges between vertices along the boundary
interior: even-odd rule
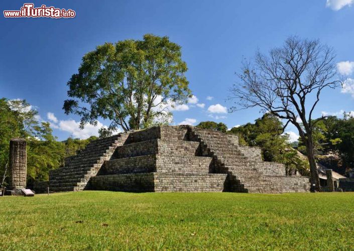
[[[354,193],[84,191],[0,208],[0,250],[354,248]]]

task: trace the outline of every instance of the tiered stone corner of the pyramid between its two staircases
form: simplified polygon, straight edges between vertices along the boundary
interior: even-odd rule
[[[149,132],[149,130],[151,132]],[[105,161],[91,187],[99,190],[222,192],[227,174],[210,173],[213,158],[200,143],[189,141],[186,128],[160,127],[131,133]],[[144,137],[143,135],[146,135]]]

